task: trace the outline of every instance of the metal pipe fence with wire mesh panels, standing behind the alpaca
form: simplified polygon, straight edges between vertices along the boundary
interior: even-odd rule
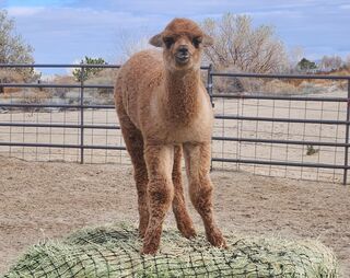
[[[81,81],[2,83],[4,89],[15,89],[0,95],[2,155],[129,163],[116,125],[113,80],[101,84],[97,79],[97,84],[83,78],[89,68],[110,70],[119,66],[0,65],[3,68],[80,68]],[[224,73],[214,72],[212,67],[202,67],[202,71],[215,112],[213,169],[347,184],[350,77]],[[219,84],[232,80],[249,80],[255,90],[218,93]],[[283,84],[304,80],[290,88],[307,90],[259,91],[267,80],[282,80]],[[316,84],[317,90],[313,91],[308,86],[315,84],[310,81],[324,83]],[[338,88],[335,82],[341,85]],[[337,89],[329,91],[331,86]],[[230,91],[230,85],[225,89]]]

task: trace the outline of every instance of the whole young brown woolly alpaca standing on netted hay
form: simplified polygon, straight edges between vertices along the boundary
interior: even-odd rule
[[[173,20],[150,39],[162,53],[144,50],[120,69],[115,102],[122,136],[135,167],[142,253],[154,254],[170,206],[186,238],[196,235],[182,185],[184,151],[190,199],[209,242],[225,246],[217,228],[209,176],[213,112],[200,79],[202,48],[212,38],[186,19]]]

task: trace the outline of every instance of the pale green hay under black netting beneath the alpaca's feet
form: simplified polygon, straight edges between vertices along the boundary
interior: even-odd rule
[[[319,242],[226,240],[229,248],[219,250],[203,235],[189,241],[164,231],[160,253],[141,256],[135,228],[83,230],[31,247],[4,277],[337,277],[336,258]]]

